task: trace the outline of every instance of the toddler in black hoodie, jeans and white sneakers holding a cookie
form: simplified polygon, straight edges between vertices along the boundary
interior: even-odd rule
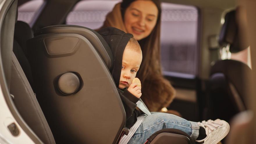
[[[132,83],[141,62],[142,51],[137,40],[130,33],[108,27],[98,31],[108,43],[114,65],[111,75],[118,88],[126,113],[126,127],[129,134],[121,138],[120,143],[145,143],[156,131],[161,129],[179,129],[198,143],[215,144],[229,132],[230,126],[224,120],[191,122],[168,113],[145,115],[136,109],[136,102],[141,97],[141,87]],[[143,115],[144,114],[144,115]]]

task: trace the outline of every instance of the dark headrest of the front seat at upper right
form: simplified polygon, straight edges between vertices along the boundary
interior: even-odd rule
[[[232,10],[225,15],[225,22],[219,35],[219,44],[223,47],[230,44],[230,52],[232,53],[242,51],[249,46],[242,45],[235,10]]]

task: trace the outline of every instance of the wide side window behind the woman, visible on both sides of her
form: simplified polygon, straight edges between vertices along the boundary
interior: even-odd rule
[[[120,0],[83,0],[69,13],[66,24],[97,29]],[[198,74],[198,10],[194,6],[162,3],[161,63],[165,75]]]

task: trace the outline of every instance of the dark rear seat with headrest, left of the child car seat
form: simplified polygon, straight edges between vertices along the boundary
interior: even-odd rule
[[[30,38],[33,38],[33,33],[29,25],[17,21],[13,41],[10,94],[14,96],[13,102],[33,131],[32,134],[41,140],[40,143],[54,144],[51,129],[31,88],[33,79],[26,49],[26,41]]]

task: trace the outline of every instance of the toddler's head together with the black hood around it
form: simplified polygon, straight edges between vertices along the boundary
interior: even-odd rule
[[[130,33],[114,28],[106,27],[98,31],[104,38],[112,52],[111,68],[109,69],[116,87],[128,88],[138,72],[142,51],[138,41]],[[106,47],[106,50],[107,47]],[[110,58],[112,57],[109,55]]]

